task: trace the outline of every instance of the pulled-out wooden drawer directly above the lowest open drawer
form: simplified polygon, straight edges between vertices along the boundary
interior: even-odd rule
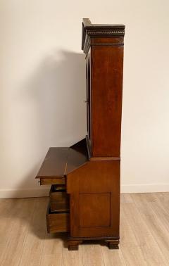
[[[50,190],[51,212],[66,212],[69,210],[69,195],[63,186],[51,186]]]

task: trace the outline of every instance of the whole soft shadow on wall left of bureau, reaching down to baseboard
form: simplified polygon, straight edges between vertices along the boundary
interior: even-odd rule
[[[17,189],[27,196],[27,189],[39,189],[35,176],[49,147],[70,146],[85,136],[84,55],[61,51],[48,56],[15,97],[20,123],[14,129],[13,167],[22,180]]]

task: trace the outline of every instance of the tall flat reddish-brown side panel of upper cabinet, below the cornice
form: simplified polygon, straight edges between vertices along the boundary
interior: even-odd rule
[[[120,156],[122,89],[123,44],[94,44],[92,156]]]

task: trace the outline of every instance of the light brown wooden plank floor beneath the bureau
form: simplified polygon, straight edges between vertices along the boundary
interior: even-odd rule
[[[46,233],[48,201],[0,200],[0,265],[169,265],[169,193],[121,196],[119,250],[89,242],[68,251],[65,234]]]

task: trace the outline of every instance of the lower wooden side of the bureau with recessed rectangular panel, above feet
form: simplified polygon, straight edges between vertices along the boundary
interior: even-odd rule
[[[70,236],[119,236],[120,161],[89,161],[67,177]]]

